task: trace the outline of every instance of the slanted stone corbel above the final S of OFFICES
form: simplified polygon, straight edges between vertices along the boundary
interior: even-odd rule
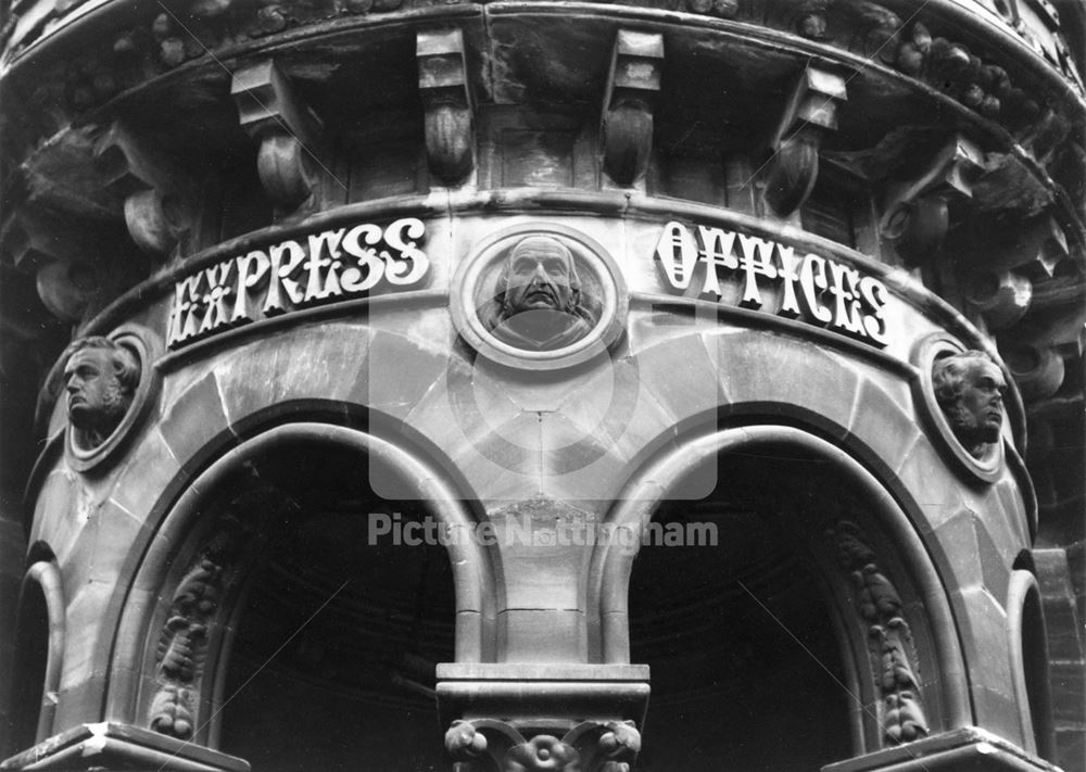
[[[950,201],[972,198],[983,169],[981,149],[957,135],[919,174],[888,188],[879,229],[906,263],[919,265],[939,250],[950,224]]]

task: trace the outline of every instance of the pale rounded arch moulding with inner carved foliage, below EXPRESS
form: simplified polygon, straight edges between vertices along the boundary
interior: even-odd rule
[[[280,405],[277,413],[281,410]],[[281,420],[282,416],[278,418]],[[166,505],[166,511],[155,523],[154,537],[148,540],[146,552],[134,568],[112,651],[109,718],[153,725],[166,713],[176,718],[177,706],[186,704],[189,707],[185,710],[190,714],[203,717],[200,720],[204,729],[198,731],[197,725],[191,725],[181,734],[191,734],[198,743],[214,743],[214,727],[206,727],[206,717],[214,714],[222,703],[223,671],[237,607],[243,596],[244,577],[233,574],[244,572],[243,567],[255,559],[260,545],[247,543],[252,534],[244,522],[239,522],[242,518],[207,522],[212,519],[207,512],[224,483],[261,454],[285,445],[365,453],[409,481],[417,498],[427,502],[429,514],[440,523],[459,530],[470,529],[473,523],[475,515],[465,504],[469,496],[455,481],[439,471],[430,459],[409,453],[377,433],[313,421],[262,429],[251,421],[249,429],[248,439],[220,453],[201,473],[185,481],[184,490]],[[493,657],[494,646],[492,558],[470,539],[451,540],[447,550],[455,595],[455,658],[487,661]],[[230,565],[231,560],[237,565]],[[209,597],[212,608],[191,610]],[[210,622],[222,632],[209,633]],[[180,636],[175,634],[177,631]],[[175,648],[184,654],[190,643],[185,636],[192,631],[207,636],[202,647],[206,659],[197,663],[205,675],[193,675],[186,671],[192,665],[182,662],[175,668],[181,676],[156,681],[155,669],[161,673],[165,657],[172,656]],[[178,641],[180,645],[175,646]]]

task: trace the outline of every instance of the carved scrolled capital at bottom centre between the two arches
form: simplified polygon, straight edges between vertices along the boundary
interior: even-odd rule
[[[561,739],[550,734],[526,738],[504,721],[454,721],[445,749],[455,772],[629,772],[641,750],[632,721],[586,721]]]

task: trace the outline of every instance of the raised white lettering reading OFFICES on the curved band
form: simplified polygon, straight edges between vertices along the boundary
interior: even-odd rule
[[[888,342],[886,286],[856,268],[813,253],[724,228],[671,222],[656,244],[656,262],[675,292],[693,287],[721,302],[769,309],[875,346]]]

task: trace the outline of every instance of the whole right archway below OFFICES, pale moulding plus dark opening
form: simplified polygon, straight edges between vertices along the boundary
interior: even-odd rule
[[[716,486],[683,501],[706,466]],[[604,547],[593,565],[601,656],[652,668],[646,769],[817,769],[968,720],[934,568],[841,447],[779,426],[696,436],[646,465],[609,519],[717,535],[643,542],[632,560]]]

